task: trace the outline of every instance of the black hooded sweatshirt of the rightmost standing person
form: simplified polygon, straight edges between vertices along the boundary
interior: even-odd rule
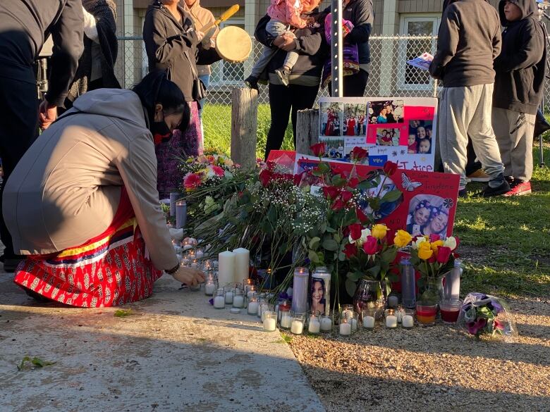
[[[536,114],[542,100],[546,71],[546,42],[537,19],[534,0],[511,0],[522,12],[520,20],[509,22],[504,15],[506,1],[499,3],[502,33],[501,55],[496,70],[493,106],[519,113]]]

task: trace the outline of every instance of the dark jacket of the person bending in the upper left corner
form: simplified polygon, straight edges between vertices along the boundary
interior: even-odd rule
[[[82,54],[80,0],[1,0],[0,77],[35,84],[32,63],[51,33],[51,76],[46,99],[61,106]]]

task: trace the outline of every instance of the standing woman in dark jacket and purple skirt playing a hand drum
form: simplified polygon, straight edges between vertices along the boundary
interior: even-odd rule
[[[179,0],[155,0],[147,8],[143,24],[143,40],[149,58],[149,71],[165,71],[178,85],[191,109],[191,121],[185,135],[177,130],[170,142],[161,143],[157,151],[157,189],[164,199],[179,187],[181,176],[176,156],[202,154],[202,133],[197,101],[202,99],[204,85],[197,75],[197,64],[209,65],[221,60],[216,49],[204,49],[204,33],[195,30],[190,14]]]

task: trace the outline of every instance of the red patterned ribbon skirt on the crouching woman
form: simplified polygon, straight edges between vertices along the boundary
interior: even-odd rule
[[[145,299],[161,275],[146,256],[145,241],[123,189],[113,223],[105,232],[57,254],[28,256],[14,281],[44,298],[93,308]]]

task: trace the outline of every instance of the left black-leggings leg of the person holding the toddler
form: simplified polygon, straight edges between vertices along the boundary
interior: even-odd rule
[[[267,133],[265,159],[269,156],[269,151],[281,149],[292,104],[288,88],[283,85],[269,83],[268,96],[269,108],[271,110],[271,125]]]

